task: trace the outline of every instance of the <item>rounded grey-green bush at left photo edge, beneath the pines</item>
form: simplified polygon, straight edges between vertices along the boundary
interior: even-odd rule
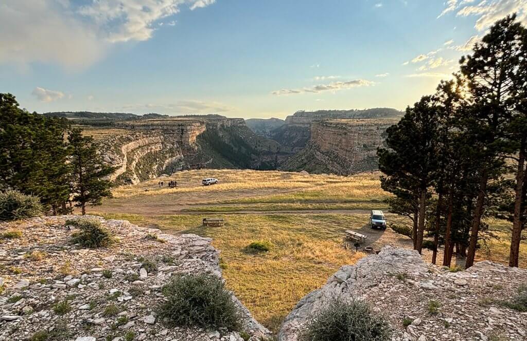
[[[43,212],[40,199],[17,190],[0,192],[0,220],[32,218]]]

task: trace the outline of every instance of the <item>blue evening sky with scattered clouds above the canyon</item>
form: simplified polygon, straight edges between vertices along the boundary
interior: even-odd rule
[[[527,0],[1,0],[0,92],[51,111],[404,109]]]

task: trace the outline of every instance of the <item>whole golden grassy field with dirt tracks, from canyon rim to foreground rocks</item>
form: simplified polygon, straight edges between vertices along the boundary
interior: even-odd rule
[[[202,186],[204,177],[216,177],[220,184]],[[179,187],[160,188],[160,179],[152,179],[115,188],[114,198],[89,213],[213,238],[212,244],[221,251],[227,286],[274,332],[301,297],[324,285],[341,265],[364,256],[344,243],[344,230],[368,235],[363,246],[374,249],[388,244],[412,248],[409,238],[391,229],[383,232],[367,226],[369,209],[388,210],[383,203],[388,194],[380,188],[378,173],[343,177],[223,169],[180,172],[162,179],[177,180]],[[224,217],[227,224],[201,226],[201,219],[211,214]],[[387,218],[408,223],[396,215]],[[500,239],[491,240],[490,248],[482,248],[477,259],[506,263],[509,224],[489,223]],[[249,252],[247,246],[255,241],[270,242],[271,249]],[[442,256],[440,252],[439,259]],[[430,262],[431,252],[426,250],[423,257]],[[521,245],[520,263],[527,267],[526,242]]]

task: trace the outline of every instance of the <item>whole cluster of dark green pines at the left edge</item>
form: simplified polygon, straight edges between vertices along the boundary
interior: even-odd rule
[[[104,165],[90,136],[65,118],[46,117],[18,107],[15,96],[0,93],[0,190],[38,196],[53,214],[85,214],[111,196],[114,171]]]

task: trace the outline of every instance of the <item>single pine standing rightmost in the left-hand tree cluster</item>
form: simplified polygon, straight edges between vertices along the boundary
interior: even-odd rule
[[[86,214],[86,205],[101,205],[104,197],[111,197],[111,182],[105,179],[114,168],[106,166],[91,136],[82,136],[81,129],[73,129],[69,135],[71,167],[73,175],[73,201]]]

